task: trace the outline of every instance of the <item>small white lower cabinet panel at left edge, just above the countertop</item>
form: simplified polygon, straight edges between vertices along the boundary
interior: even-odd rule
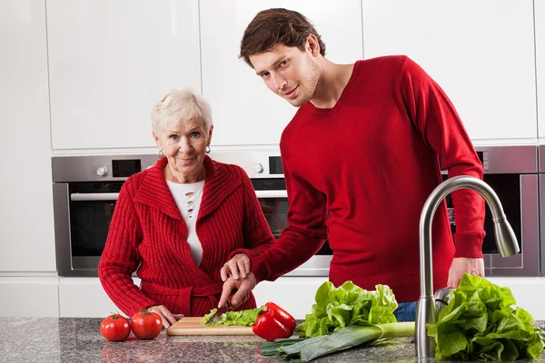
[[[0,316],[58,317],[58,278],[0,277]]]

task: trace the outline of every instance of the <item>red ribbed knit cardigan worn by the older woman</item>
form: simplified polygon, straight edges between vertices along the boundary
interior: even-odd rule
[[[187,227],[163,176],[166,163],[163,158],[124,182],[98,267],[104,290],[129,317],[154,305],[203,316],[217,307],[223,263],[241,252],[255,257],[274,242],[243,169],[206,156],[196,221],[203,260],[195,265]],[[136,269],[142,290],[131,279]],[[253,308],[253,296],[239,307]]]

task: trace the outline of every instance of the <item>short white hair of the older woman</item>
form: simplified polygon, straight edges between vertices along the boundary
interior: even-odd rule
[[[197,118],[206,129],[212,126],[212,108],[204,97],[189,88],[172,90],[152,109],[152,128],[156,134],[168,124]]]

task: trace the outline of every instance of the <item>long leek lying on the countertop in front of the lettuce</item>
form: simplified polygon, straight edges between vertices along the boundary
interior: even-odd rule
[[[373,344],[384,338],[414,336],[414,322],[351,325],[330,335],[316,338],[284,339],[263,343],[263,356],[281,356],[308,362],[363,343]]]

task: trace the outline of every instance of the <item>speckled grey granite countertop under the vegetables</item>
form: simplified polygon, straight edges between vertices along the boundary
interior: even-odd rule
[[[124,342],[109,342],[100,334],[102,319],[0,318],[2,362],[277,362],[263,357],[262,338],[246,336],[159,337],[138,340],[133,334]],[[545,328],[545,321],[536,324]],[[411,338],[391,339],[376,347],[352,348],[315,362],[414,362]],[[431,359],[434,361],[434,359]],[[543,362],[545,353],[533,360]]]

